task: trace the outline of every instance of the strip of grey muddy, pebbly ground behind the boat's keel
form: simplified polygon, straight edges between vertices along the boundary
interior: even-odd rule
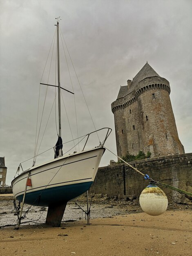
[[[11,198],[10,198],[11,199]],[[85,200],[79,201],[77,203],[82,209],[87,211],[87,204]],[[17,204],[18,205],[18,204]],[[62,222],[68,220],[80,220],[85,219],[85,212],[83,212],[74,201],[68,202],[67,207],[65,209],[65,213],[62,219]],[[27,211],[30,206],[24,204],[23,214]],[[141,212],[141,208],[138,205],[127,205],[124,202],[109,202],[104,200],[103,202],[93,202],[91,206],[91,218],[106,218],[117,215],[123,215],[133,212]],[[26,215],[26,218],[22,220],[33,221],[30,224],[43,224],[45,223],[47,216],[47,208],[46,207],[31,207]],[[0,201],[0,227],[4,225],[16,225],[17,224],[17,216],[13,207],[13,199],[12,200],[1,200]]]

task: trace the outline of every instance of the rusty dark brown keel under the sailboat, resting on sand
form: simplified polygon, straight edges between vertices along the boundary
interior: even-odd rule
[[[51,204],[48,207],[46,225],[60,227],[67,202]]]

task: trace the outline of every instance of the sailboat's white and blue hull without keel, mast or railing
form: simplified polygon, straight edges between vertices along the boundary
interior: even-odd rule
[[[29,175],[32,186],[27,186],[26,204],[47,207],[68,202],[90,188],[104,152],[105,148],[94,148],[33,166],[11,182],[13,195],[22,202]]]

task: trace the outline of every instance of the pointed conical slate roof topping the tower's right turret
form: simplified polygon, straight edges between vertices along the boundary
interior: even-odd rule
[[[159,76],[159,74],[157,74],[154,71],[154,69],[149,65],[149,63],[147,62],[134,77],[131,87],[133,87],[134,85],[137,85],[138,82],[142,81],[143,79],[145,79],[147,77],[152,77],[152,76]],[[161,77],[161,76],[159,76],[159,77]]]

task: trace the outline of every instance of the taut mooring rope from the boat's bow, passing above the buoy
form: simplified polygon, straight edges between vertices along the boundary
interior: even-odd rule
[[[104,148],[106,148],[106,147],[104,147]],[[145,178],[145,180],[149,180],[150,182],[153,182],[154,184],[158,184],[158,185],[164,186],[164,187],[166,187],[166,188],[168,188],[168,189],[175,190],[175,191],[177,191],[177,192],[179,192],[179,193],[181,193],[181,194],[186,194],[186,195],[192,196],[192,193],[190,193],[190,192],[188,192],[188,191],[185,191],[185,190],[182,190],[182,189],[178,189],[178,188],[175,188],[174,186],[170,186],[170,185],[168,185],[168,184],[165,184],[165,183],[162,183],[162,182],[155,181],[155,180],[151,179],[151,178],[149,177],[149,175],[142,173],[142,172],[139,171],[137,168],[133,167],[131,164],[125,162],[121,157],[119,157],[118,155],[116,155],[115,153],[113,153],[111,150],[109,150],[108,148],[106,148],[106,149],[107,149],[109,152],[111,152],[113,155],[115,155],[116,157],[118,157],[119,159],[121,159],[121,161],[123,161],[125,164],[127,164],[127,165],[128,165],[129,167],[131,167],[132,169],[134,169],[136,172],[138,172],[138,173],[140,173],[141,175],[143,175],[144,178]]]

